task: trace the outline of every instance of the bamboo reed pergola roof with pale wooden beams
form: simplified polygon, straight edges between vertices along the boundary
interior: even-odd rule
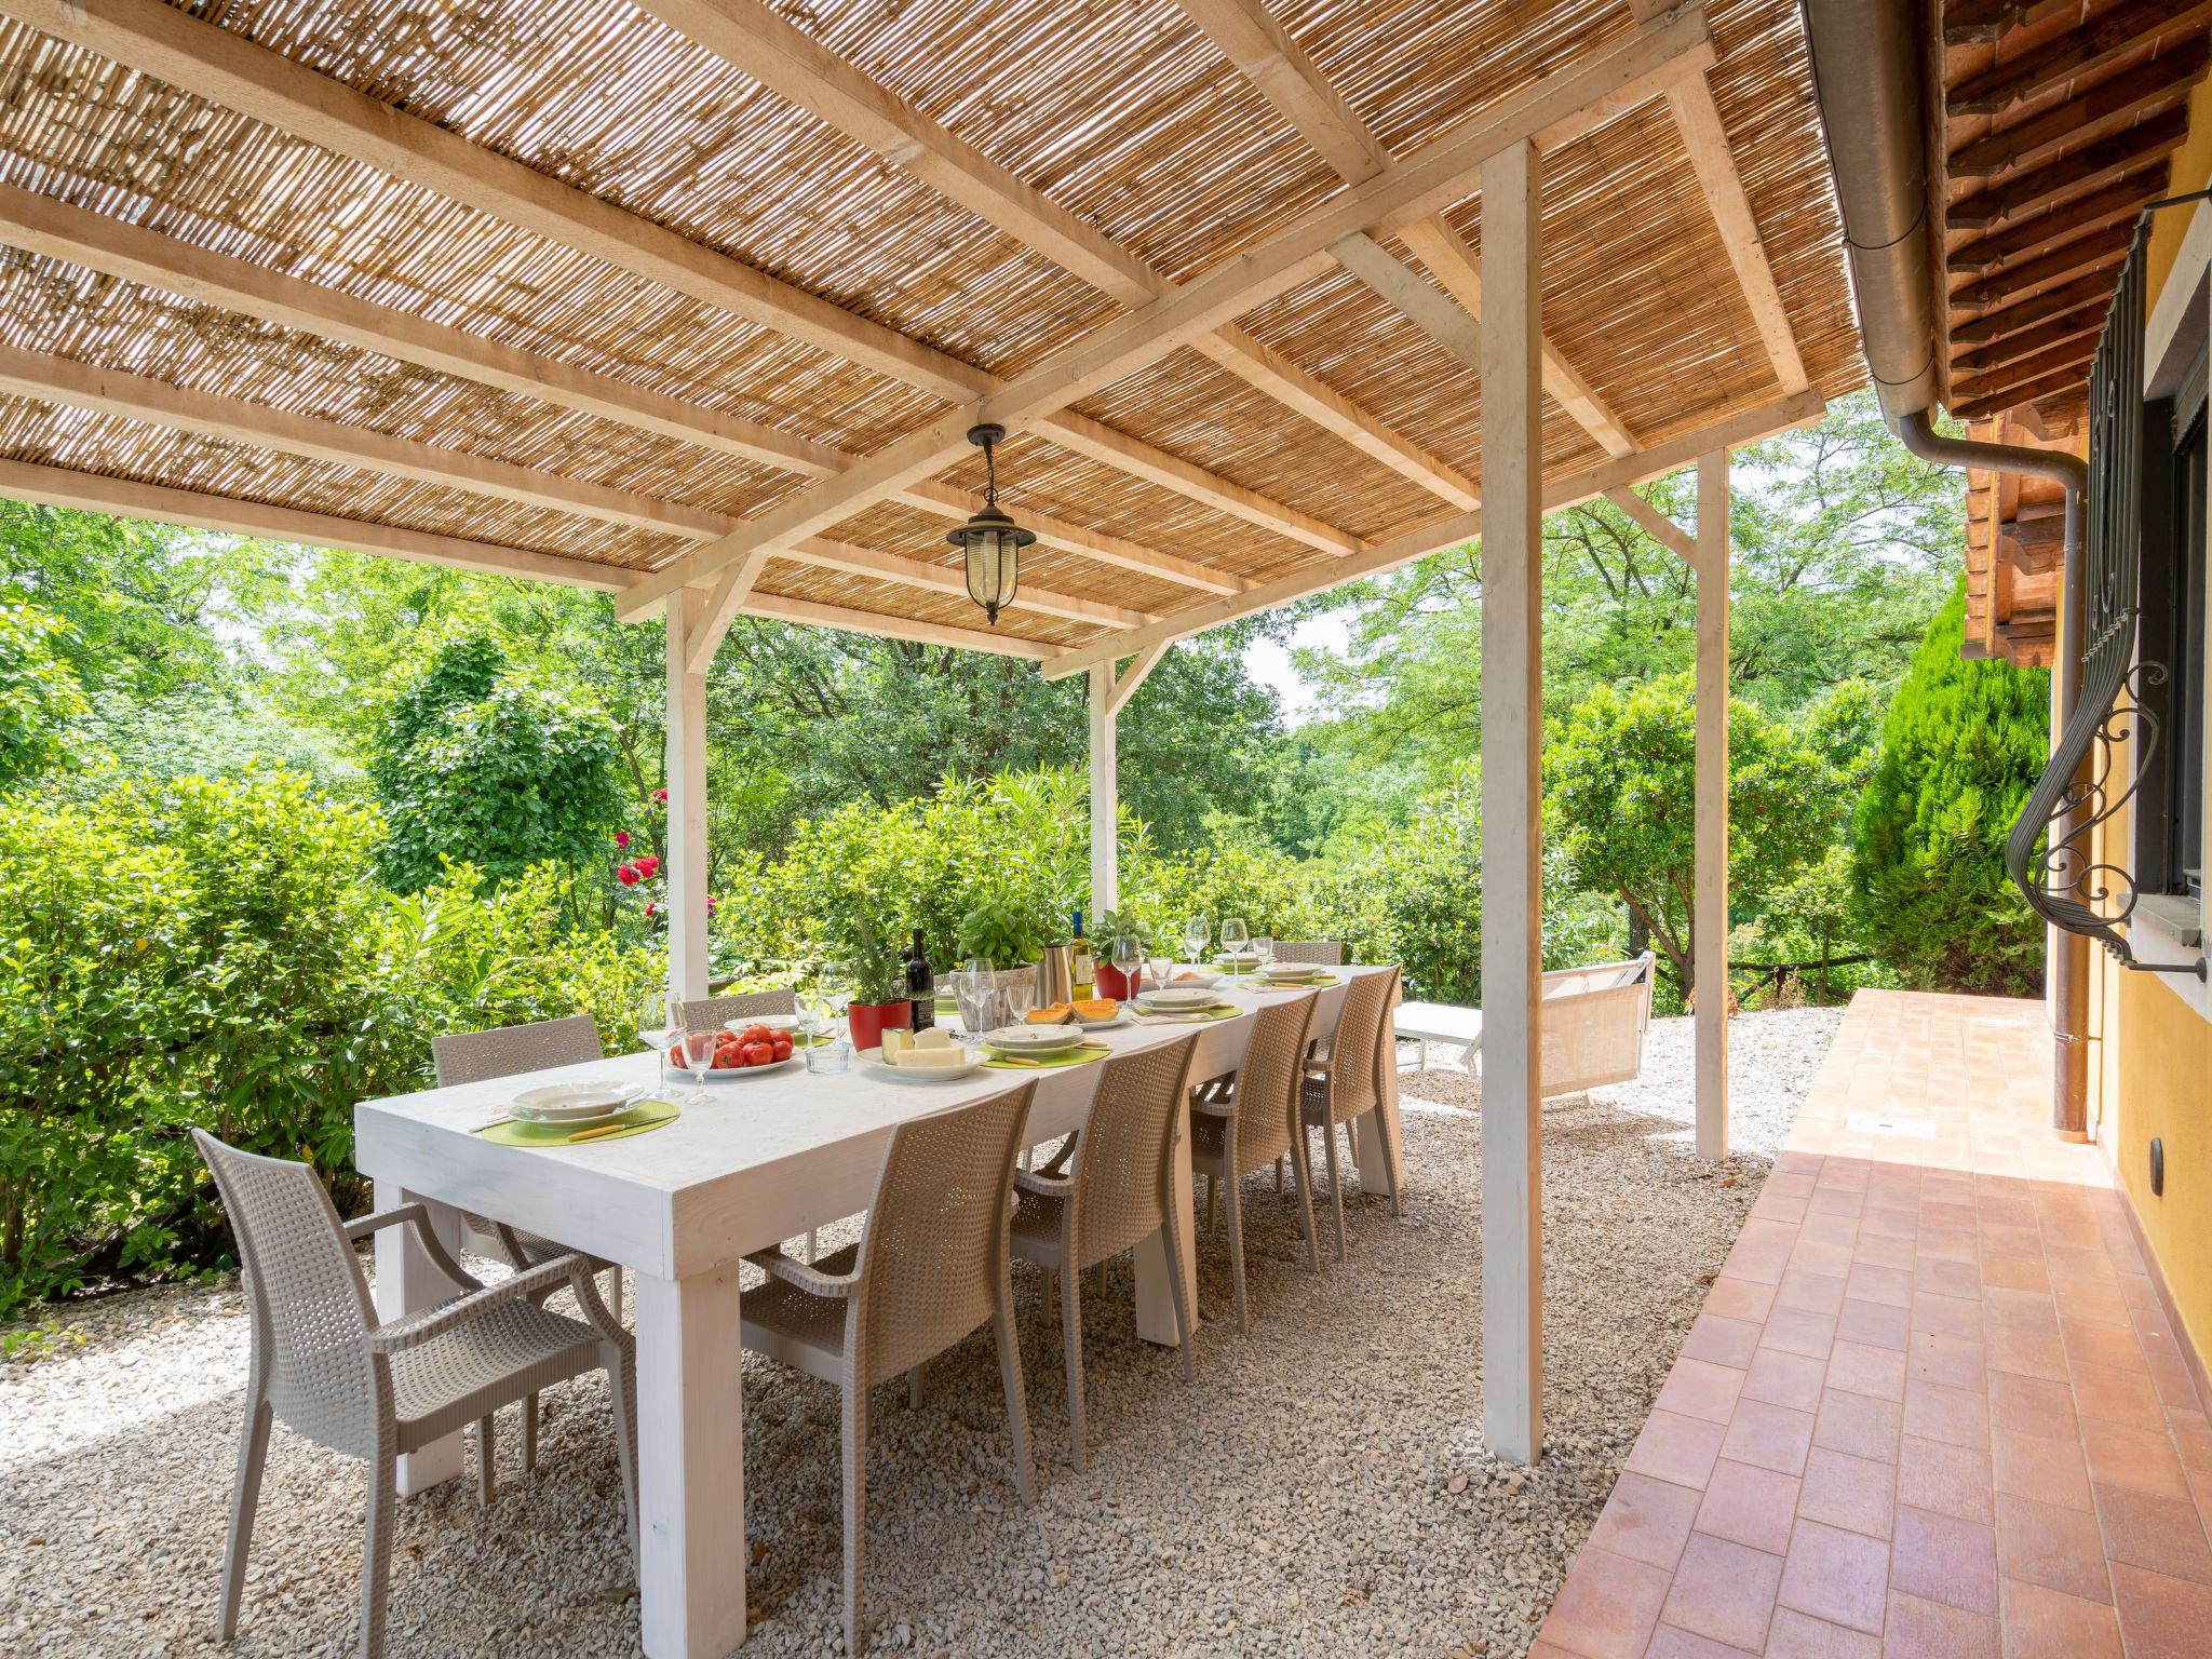
[[[1467,540],[1522,139],[1546,502],[1863,378],[1794,0],[0,0],[0,493],[688,595],[701,657],[1077,672]]]

